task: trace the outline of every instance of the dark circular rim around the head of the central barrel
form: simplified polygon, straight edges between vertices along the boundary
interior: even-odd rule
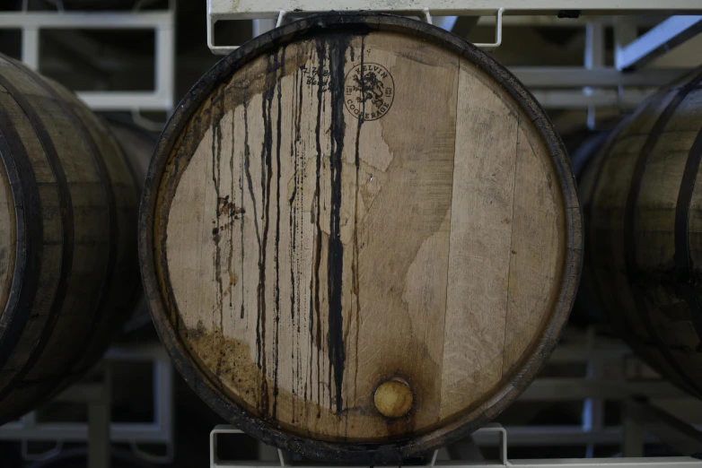
[[[557,172],[561,175],[561,180],[559,180],[559,182],[564,186],[564,196],[566,197],[569,215],[568,227],[570,228],[567,233],[567,245],[569,247],[576,246],[576,248],[569,248],[568,250],[569,260],[571,261],[568,262],[567,271],[563,273],[565,278],[564,284],[568,287],[562,290],[561,299],[559,300],[559,304],[562,308],[565,307],[569,309],[575,296],[575,284],[577,283],[580,273],[577,260],[580,258],[581,246],[579,231],[580,212],[577,205],[574,184],[572,182],[572,175],[565,157],[565,150],[557,134],[552,126],[550,126],[548,117],[540,112],[531,94],[524,90],[505,68],[491,61],[482,52],[478,51],[478,49],[473,48],[451,34],[436,30],[430,25],[390,15],[360,14],[351,16],[330,14],[316,16],[303,20],[302,22],[292,23],[278,30],[272,30],[259,38],[252,39],[232,55],[224,57],[220,63],[215,65],[205,77],[197,82],[189,95],[180,103],[174,116],[171,117],[171,121],[166,126],[162,134],[162,139],[154,152],[154,160],[152,160],[149,168],[140,207],[139,248],[145,290],[152,308],[154,323],[162,342],[164,342],[171,353],[171,358],[174,360],[181,375],[185,377],[186,381],[188,381],[189,385],[196,393],[213,407],[216,412],[219,412],[241,429],[244,429],[254,437],[268,444],[284,447],[303,453],[303,455],[345,462],[382,463],[382,461],[397,461],[399,457],[422,453],[442,446],[456,438],[461,438],[471,430],[476,429],[480,424],[495,417],[498,412],[502,411],[509,402],[521,393],[523,388],[513,388],[508,394],[509,397],[502,400],[503,404],[499,408],[492,406],[492,412],[481,414],[474,420],[473,424],[469,426],[457,423],[453,424],[451,428],[444,427],[443,429],[437,429],[424,437],[413,440],[402,440],[389,444],[377,444],[375,446],[351,446],[343,443],[311,441],[306,438],[294,437],[281,432],[267,422],[250,417],[247,413],[242,412],[234,405],[228,403],[224,394],[215,386],[212,386],[210,382],[205,381],[205,385],[201,385],[198,381],[197,364],[192,361],[188,353],[184,350],[182,344],[179,342],[177,334],[170,325],[168,316],[171,313],[163,307],[159,279],[157,278],[156,269],[154,268],[155,247],[153,226],[160,175],[162,169],[168,162],[168,155],[171,153],[172,148],[178,140],[177,135],[188,125],[189,115],[194,112],[200,102],[206,100],[209,92],[215,89],[217,83],[224,81],[239,65],[243,65],[256,56],[266,53],[271,48],[276,48],[286,41],[294,39],[297,34],[305,34],[308,28],[310,30],[323,30],[328,27],[335,27],[338,29],[347,25],[349,27],[364,25],[374,29],[401,30],[406,33],[408,32],[408,28],[411,28],[412,34],[416,36],[438,42],[440,45],[450,48],[454,52],[458,52],[461,56],[468,56],[475,59],[474,63],[486,69],[488,73],[499,82],[506,83],[505,91],[524,106],[532,121],[538,122],[537,125],[544,134],[544,141],[548,144],[550,152],[554,154]],[[574,259],[575,261],[573,261]],[[165,268],[165,265],[159,264],[158,267]],[[565,314],[560,314],[558,319],[553,320],[549,324],[548,332],[544,336],[550,338],[548,340],[542,340],[540,343],[540,352],[535,352],[532,358],[537,355],[543,356],[548,354],[548,351],[552,349],[557,342],[557,335],[565,324],[566,317],[567,312]],[[531,365],[528,366],[529,369],[521,375],[522,382],[529,381],[532,377],[535,377],[540,366],[543,364],[543,362],[539,360],[540,358],[532,360]]]

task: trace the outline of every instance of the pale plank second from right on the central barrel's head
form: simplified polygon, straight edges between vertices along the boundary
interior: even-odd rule
[[[502,378],[519,130],[517,113],[471,67],[459,82],[442,417]]]

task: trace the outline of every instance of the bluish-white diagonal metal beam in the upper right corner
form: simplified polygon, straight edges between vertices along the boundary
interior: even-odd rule
[[[638,68],[672,48],[680,46],[700,32],[702,32],[702,15],[671,16],[627,46],[617,49],[615,65],[619,70]],[[702,62],[702,59],[690,65],[699,65],[699,62]]]

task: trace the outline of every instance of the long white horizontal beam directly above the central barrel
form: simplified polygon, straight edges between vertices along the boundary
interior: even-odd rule
[[[424,0],[417,3],[397,0],[208,0],[211,19],[253,20],[276,18],[280,11],[295,13],[349,12],[370,10],[388,13],[417,13],[428,8],[433,15],[493,14],[499,8],[510,12],[581,10],[594,13],[667,11],[702,13],[699,0]]]

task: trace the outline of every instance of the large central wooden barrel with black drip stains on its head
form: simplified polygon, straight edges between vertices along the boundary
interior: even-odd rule
[[[139,223],[189,385],[329,460],[397,462],[495,417],[580,272],[575,184],[531,94],[390,15],[294,22],[215,65],[162,134]]]

